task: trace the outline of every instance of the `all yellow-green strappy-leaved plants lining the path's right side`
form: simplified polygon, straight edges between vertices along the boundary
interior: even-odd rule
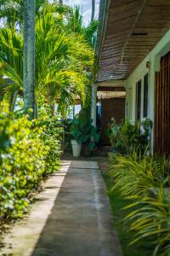
[[[112,190],[132,202],[125,208],[137,242],[146,237],[154,255],[169,255],[170,159],[165,156],[110,155]]]

